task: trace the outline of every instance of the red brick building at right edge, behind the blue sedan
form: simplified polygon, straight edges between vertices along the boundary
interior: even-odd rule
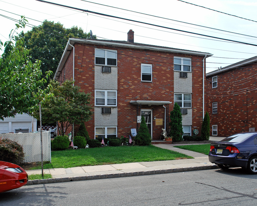
[[[257,56],[206,74],[210,135],[257,129]]]

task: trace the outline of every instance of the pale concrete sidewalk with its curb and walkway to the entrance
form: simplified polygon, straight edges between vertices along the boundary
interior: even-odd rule
[[[222,139],[223,138],[219,137],[210,137],[210,140],[214,142]],[[209,162],[208,155],[176,148],[174,147],[176,146],[176,144],[155,144],[155,146],[163,149],[180,152],[188,156],[191,156],[194,159],[84,166],[66,169],[44,169],[44,174],[51,174],[53,178],[42,180],[30,180],[28,181],[27,185],[105,179],[114,177],[131,177],[138,175],[153,175],[174,172],[188,172],[218,168],[215,164]],[[26,172],[28,175],[41,174],[41,170],[28,170]]]

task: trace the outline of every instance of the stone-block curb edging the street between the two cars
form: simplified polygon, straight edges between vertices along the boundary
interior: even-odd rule
[[[173,168],[173,169],[160,169],[153,171],[141,171],[141,172],[128,172],[128,173],[117,173],[117,174],[105,174],[105,175],[88,175],[88,176],[76,176],[76,177],[62,177],[62,178],[51,178],[51,179],[40,179],[40,180],[29,180],[27,185],[39,185],[48,183],[61,183],[70,181],[83,181],[83,180],[93,180],[93,179],[107,179],[107,178],[117,178],[117,177],[132,177],[139,175],[156,175],[156,174],[166,174],[166,173],[177,173],[177,172],[189,172],[207,169],[217,169],[218,165],[206,165],[197,167],[183,167],[183,168]]]

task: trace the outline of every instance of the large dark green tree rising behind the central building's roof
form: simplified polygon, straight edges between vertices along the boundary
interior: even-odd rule
[[[52,71],[55,74],[67,40],[73,37],[87,39],[90,38],[90,33],[84,33],[77,26],[65,29],[60,22],[45,20],[38,27],[33,27],[26,33],[21,32],[20,37],[24,38],[24,45],[29,49],[32,60],[38,59],[42,62],[43,73]]]

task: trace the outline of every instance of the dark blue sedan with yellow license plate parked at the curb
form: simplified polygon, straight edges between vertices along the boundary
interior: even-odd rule
[[[211,143],[209,161],[221,169],[242,167],[257,174],[257,132],[242,132]]]

